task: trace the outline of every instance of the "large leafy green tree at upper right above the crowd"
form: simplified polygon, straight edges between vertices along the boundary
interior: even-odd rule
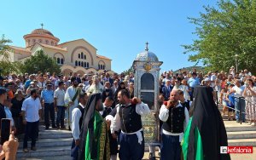
[[[199,18],[189,18],[198,38],[183,45],[184,54],[194,52],[190,61],[223,71],[236,66],[237,54],[238,70],[256,73],[256,0],[220,0],[204,9]]]

